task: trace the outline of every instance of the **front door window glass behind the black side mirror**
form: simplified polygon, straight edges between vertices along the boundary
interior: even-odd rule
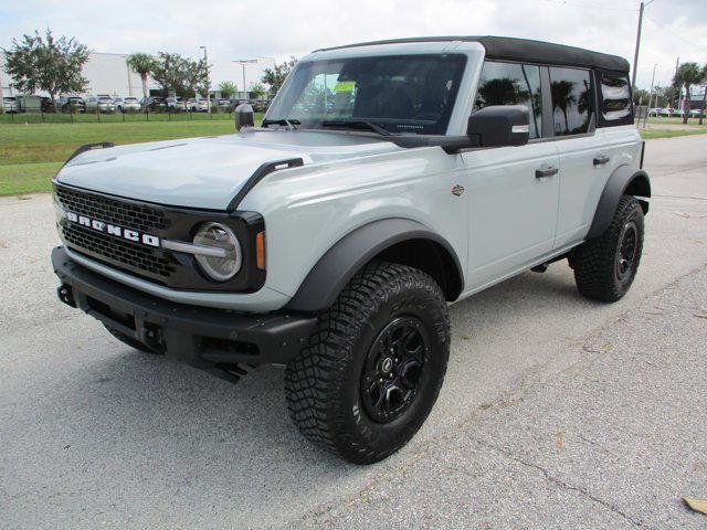
[[[530,138],[542,132],[540,67],[486,61],[478,80],[474,110],[490,105],[525,105],[530,112]]]

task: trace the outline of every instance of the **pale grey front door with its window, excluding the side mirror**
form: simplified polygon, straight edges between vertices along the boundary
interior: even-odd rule
[[[530,142],[462,153],[471,203],[469,289],[502,279],[552,248],[559,159],[542,119],[542,108],[549,105],[549,94],[541,89],[544,75],[546,70],[536,65],[484,64],[475,109],[526,105]]]

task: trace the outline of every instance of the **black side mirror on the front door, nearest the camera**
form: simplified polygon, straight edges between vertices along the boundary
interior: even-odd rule
[[[466,134],[479,147],[525,146],[530,136],[530,113],[525,105],[493,105],[468,117]]]

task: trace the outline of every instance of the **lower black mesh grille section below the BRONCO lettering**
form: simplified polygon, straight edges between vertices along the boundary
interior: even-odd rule
[[[62,231],[64,240],[70,245],[114,259],[135,271],[151,273],[163,278],[168,278],[176,271],[172,263],[158,250],[94,232],[76,224],[66,223],[62,226]]]

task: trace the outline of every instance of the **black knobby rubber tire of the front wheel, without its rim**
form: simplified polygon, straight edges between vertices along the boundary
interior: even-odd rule
[[[419,319],[419,328],[425,330],[426,372],[420,375],[420,390],[404,413],[380,423],[363,406],[361,378],[379,333],[401,318]],[[379,462],[405,445],[428,417],[442,386],[449,352],[450,317],[439,284],[415,268],[373,262],[320,315],[308,344],[287,365],[289,415],[309,441],[341,458],[356,464]]]

